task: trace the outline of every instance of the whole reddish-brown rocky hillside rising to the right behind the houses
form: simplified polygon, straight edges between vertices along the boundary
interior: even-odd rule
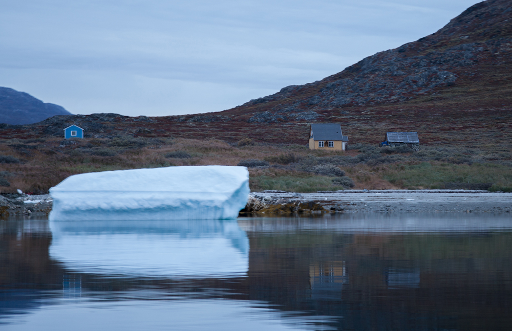
[[[0,139],[181,137],[305,145],[309,124],[342,124],[350,144],[417,131],[421,144],[512,148],[512,2],[487,0],[436,33],[367,57],[321,81],[284,87],[224,112],[167,117],[56,116],[0,125]],[[494,148],[494,147],[493,147]]]

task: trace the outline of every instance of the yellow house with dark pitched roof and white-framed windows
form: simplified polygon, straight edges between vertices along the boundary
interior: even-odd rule
[[[342,134],[339,124],[311,124],[309,149],[345,150],[349,137]]]

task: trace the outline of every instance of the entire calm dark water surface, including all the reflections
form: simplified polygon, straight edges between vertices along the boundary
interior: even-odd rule
[[[510,215],[0,222],[0,329],[512,329]]]

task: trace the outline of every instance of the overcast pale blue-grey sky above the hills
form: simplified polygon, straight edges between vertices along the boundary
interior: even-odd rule
[[[0,86],[73,114],[217,112],[431,34],[476,0],[0,0]]]

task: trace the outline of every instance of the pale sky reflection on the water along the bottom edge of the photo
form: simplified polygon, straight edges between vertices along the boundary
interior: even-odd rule
[[[286,316],[261,304],[225,299],[75,301],[63,303],[65,306],[59,303],[47,302],[36,314],[13,317],[6,329],[277,331],[304,329],[333,320]]]

